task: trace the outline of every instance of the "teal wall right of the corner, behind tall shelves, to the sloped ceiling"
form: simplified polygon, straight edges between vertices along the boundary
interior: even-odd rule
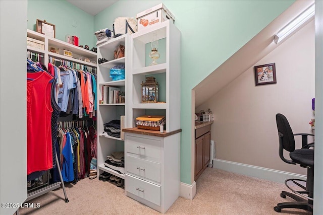
[[[163,2],[181,41],[181,181],[191,184],[191,90],[294,3],[288,1],[119,1],[94,16],[94,29]],[[96,42],[96,39],[95,39]]]

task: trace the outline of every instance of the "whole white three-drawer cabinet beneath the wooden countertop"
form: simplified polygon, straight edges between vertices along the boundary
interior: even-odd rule
[[[125,193],[165,213],[180,195],[181,134],[160,137],[124,131]],[[144,147],[146,153],[138,146]]]

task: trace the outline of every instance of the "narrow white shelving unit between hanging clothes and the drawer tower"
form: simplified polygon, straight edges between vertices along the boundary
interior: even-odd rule
[[[97,58],[105,58],[109,61],[100,63],[97,66],[97,168],[98,174],[108,172],[116,175],[122,179],[125,178],[124,174],[120,174],[110,168],[104,166],[106,156],[111,155],[113,152],[120,152],[124,150],[124,141],[122,138],[116,138],[108,135],[104,131],[104,123],[110,122],[114,119],[121,120],[121,116],[127,115],[129,112],[129,93],[127,87],[127,80],[129,74],[129,62],[130,51],[129,41],[130,36],[128,34],[122,35],[117,38],[113,38],[97,46]],[[125,57],[114,59],[114,51],[119,45],[125,46]],[[125,80],[112,81],[110,78],[110,68],[115,65],[125,65]],[[99,100],[102,100],[102,86],[118,87],[125,92],[125,104],[100,104]],[[127,120],[125,120],[125,125]]]

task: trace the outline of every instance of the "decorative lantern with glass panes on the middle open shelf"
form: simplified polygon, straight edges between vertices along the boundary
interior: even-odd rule
[[[145,83],[141,84],[142,103],[156,103],[158,101],[158,82],[154,77],[146,77]]]

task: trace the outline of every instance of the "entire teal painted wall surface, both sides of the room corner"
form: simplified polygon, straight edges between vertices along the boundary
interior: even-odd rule
[[[56,25],[56,38],[76,35],[81,45],[96,44],[94,32],[112,29],[117,17],[164,3],[175,16],[181,41],[181,181],[191,184],[191,90],[253,36],[294,3],[285,1],[119,1],[91,16],[66,1],[28,1],[28,29],[36,19]],[[76,21],[77,26],[72,26]],[[185,83],[185,84],[184,84]]]

